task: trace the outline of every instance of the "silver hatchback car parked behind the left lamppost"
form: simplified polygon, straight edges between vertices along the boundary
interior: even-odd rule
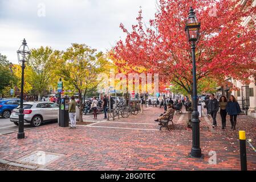
[[[26,102],[23,109],[24,121],[33,127],[38,127],[48,121],[58,121],[59,105],[53,102]],[[10,121],[18,126],[19,106],[11,113]]]

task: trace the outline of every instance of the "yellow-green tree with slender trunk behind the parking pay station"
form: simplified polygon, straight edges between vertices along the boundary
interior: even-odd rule
[[[83,94],[97,87],[97,75],[104,71],[107,63],[102,52],[85,44],[72,44],[66,52],[55,51],[56,74],[79,95],[80,122],[83,122]]]

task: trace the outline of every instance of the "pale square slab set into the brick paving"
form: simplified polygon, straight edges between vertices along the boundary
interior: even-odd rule
[[[18,162],[46,166],[47,164],[54,162],[55,160],[61,158],[62,156],[63,154],[56,154],[45,151],[35,151],[32,152],[32,154],[22,157],[21,159],[18,160]]]

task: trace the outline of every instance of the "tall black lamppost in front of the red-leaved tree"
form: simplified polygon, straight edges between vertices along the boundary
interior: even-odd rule
[[[192,138],[193,146],[191,149],[190,156],[193,158],[201,158],[201,148],[200,148],[200,120],[199,112],[197,109],[197,72],[196,72],[196,43],[199,40],[201,23],[198,22],[196,14],[193,8],[190,8],[189,17],[186,22],[186,35],[188,37],[188,42],[191,44],[192,49],[192,62],[193,62],[193,112],[192,112]]]

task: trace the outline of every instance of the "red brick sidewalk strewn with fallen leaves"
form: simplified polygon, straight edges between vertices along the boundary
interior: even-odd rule
[[[16,139],[17,133],[0,135],[0,159],[52,170],[239,170],[238,131],[245,130],[256,146],[255,118],[239,115],[233,131],[229,122],[226,130],[221,129],[219,114],[216,129],[212,129],[212,119],[204,116],[200,118],[204,159],[188,158],[192,147],[192,130],[186,127],[188,114],[174,115],[172,130],[159,131],[154,119],[162,112],[148,107],[143,114],[115,121],[101,119],[77,129],[41,126],[26,131],[23,140]],[[36,151],[45,152],[43,164],[32,164],[38,163]],[[216,154],[216,164],[209,164],[212,154]],[[256,152],[249,146],[247,166],[256,170]]]

